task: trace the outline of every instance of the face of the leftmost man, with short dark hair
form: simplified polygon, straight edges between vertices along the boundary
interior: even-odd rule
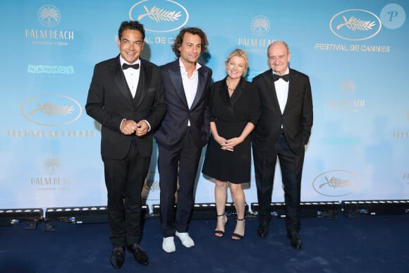
[[[143,49],[142,33],[138,30],[123,30],[118,48],[125,61],[135,63]]]

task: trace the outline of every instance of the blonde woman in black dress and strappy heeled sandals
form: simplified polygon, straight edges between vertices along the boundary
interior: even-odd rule
[[[228,217],[224,210],[227,188],[236,207],[237,222],[231,238],[240,240],[245,233],[245,194],[242,183],[250,182],[250,133],[260,117],[260,99],[252,83],[245,80],[248,55],[235,49],[225,61],[227,76],[210,90],[210,130],[202,173],[216,179],[217,224],[214,235],[224,236]]]

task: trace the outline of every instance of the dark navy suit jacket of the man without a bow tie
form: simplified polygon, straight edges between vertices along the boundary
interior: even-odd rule
[[[181,147],[188,129],[188,120],[190,120],[190,129],[196,147],[202,148],[209,140],[208,101],[212,70],[207,66],[202,66],[197,72],[199,74],[197,92],[192,107],[189,109],[179,59],[161,66],[167,111],[154,136],[158,145],[166,150],[178,150]]]

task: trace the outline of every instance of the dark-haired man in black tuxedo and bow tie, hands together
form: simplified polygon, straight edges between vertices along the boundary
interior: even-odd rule
[[[145,30],[136,21],[118,30],[120,54],[97,63],[87,114],[102,124],[101,154],[108,191],[108,222],[113,245],[111,265],[120,268],[125,246],[142,265],[140,247],[142,186],[152,154],[152,135],[166,112],[160,69],[140,58]]]

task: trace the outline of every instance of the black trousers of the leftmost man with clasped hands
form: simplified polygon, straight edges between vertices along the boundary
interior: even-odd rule
[[[150,157],[140,157],[136,145],[134,139],[124,159],[102,158],[108,191],[109,239],[114,247],[140,243],[142,236],[141,193]]]

